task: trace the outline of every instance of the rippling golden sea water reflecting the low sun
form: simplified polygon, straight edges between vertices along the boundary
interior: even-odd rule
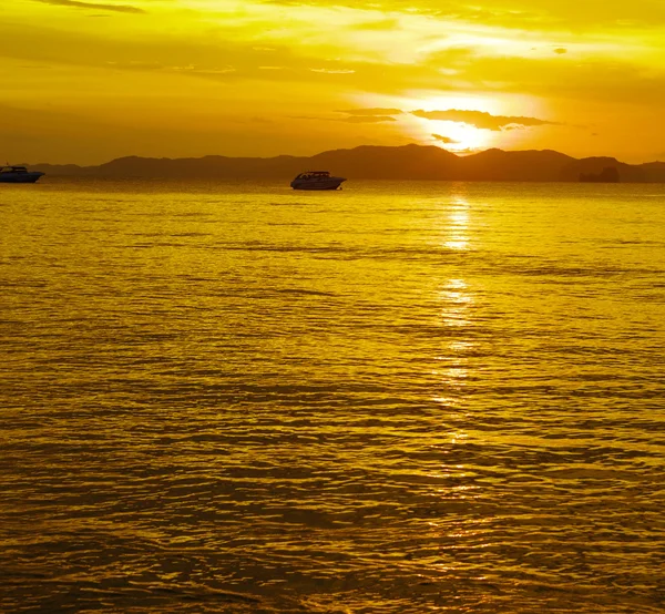
[[[0,611],[665,608],[665,186],[0,186]]]

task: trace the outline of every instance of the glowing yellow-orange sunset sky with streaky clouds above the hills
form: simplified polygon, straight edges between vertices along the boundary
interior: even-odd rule
[[[0,55],[2,162],[665,160],[665,0],[13,0]]]

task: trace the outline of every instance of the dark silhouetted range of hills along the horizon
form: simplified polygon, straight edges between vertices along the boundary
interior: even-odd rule
[[[119,157],[99,166],[35,164],[48,175],[142,178],[290,180],[303,171],[330,171],[349,180],[443,180],[579,182],[615,177],[623,183],[665,183],[665,162],[625,164],[614,157],[585,157],[543,151],[487,150],[458,156],[434,145],[386,147],[361,145],[309,157]]]

